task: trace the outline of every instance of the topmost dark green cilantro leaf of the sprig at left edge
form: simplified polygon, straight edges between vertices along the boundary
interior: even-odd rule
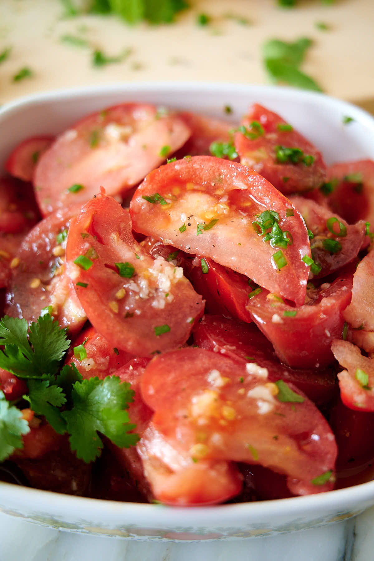
[[[5,347],[0,351],[0,367],[20,378],[41,379],[56,374],[69,344],[66,329],[59,328],[49,314],[31,323],[29,339],[25,319],[4,316],[0,320],[0,345]]]

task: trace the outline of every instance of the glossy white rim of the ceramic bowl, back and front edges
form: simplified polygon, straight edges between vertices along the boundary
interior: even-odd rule
[[[331,107],[334,105],[341,114],[349,114],[362,125],[369,128],[374,134],[374,117],[352,103],[308,90],[296,88],[284,88],[280,86],[267,86],[257,84],[229,84],[225,82],[133,82],[131,84],[114,83],[95,86],[78,86],[75,88],[56,89],[41,91],[4,103],[0,107],[0,126],[2,118],[17,113],[19,109],[27,106],[39,105],[45,102],[72,101],[77,99],[91,98],[98,95],[110,95],[126,93],[130,95],[141,91],[150,96],[155,93],[183,93],[208,94],[219,91],[221,94],[272,94],[280,100],[292,100],[297,98],[301,102],[311,102]],[[172,104],[168,104],[172,105]],[[204,110],[205,112],[205,110]],[[368,498],[373,500],[368,502]],[[53,491],[43,491],[0,482],[0,502],[4,505],[12,505],[14,512],[24,511],[27,504],[33,504],[34,510],[38,512],[67,511],[74,513],[73,517],[83,516],[81,513],[92,513],[94,518],[108,519],[116,518],[119,521],[132,519],[134,525],[145,525],[151,527],[170,527],[185,525],[191,522],[193,525],[211,527],[212,525],[238,525],[238,520],[261,522],[270,516],[281,517],[285,511],[292,516],[302,516],[309,512],[332,512],[339,509],[352,509],[358,504],[374,503],[374,480],[362,484],[350,486],[344,489],[336,489],[325,493],[313,495],[295,496],[287,499],[264,500],[251,503],[221,504],[205,507],[166,507],[160,508],[157,504],[116,502],[113,500],[93,499],[74,495],[64,495]],[[11,512],[11,507],[10,513]],[[358,511],[364,508],[359,506]],[[6,507],[3,508],[6,512]],[[29,512],[30,509],[27,509]],[[187,520],[188,519],[188,520]],[[224,522],[223,522],[224,519]],[[103,525],[105,527],[105,525]]]

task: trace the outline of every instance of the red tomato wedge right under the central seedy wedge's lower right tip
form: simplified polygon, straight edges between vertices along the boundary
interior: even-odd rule
[[[331,283],[308,289],[303,306],[290,306],[262,291],[248,301],[247,310],[281,362],[293,368],[318,368],[334,361],[331,342],[342,337],[351,289],[352,273],[344,272]]]

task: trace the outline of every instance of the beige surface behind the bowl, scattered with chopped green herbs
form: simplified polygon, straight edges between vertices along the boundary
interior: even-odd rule
[[[82,2],[84,0],[75,0]],[[0,52],[12,47],[0,65],[0,103],[35,91],[105,82],[147,80],[221,81],[264,84],[261,45],[266,39],[314,40],[303,70],[330,95],[374,111],[374,1],[299,0],[291,9],[276,0],[191,0],[191,10],[172,25],[132,27],[113,16],[63,17],[59,0],[1,0]],[[208,26],[196,15],[211,16]],[[240,24],[239,16],[250,21]],[[316,22],[329,26],[318,30]],[[89,47],[61,42],[64,34],[85,39]],[[91,63],[94,48],[116,56],[130,48],[121,63],[101,68]],[[34,76],[12,77],[24,66]]]

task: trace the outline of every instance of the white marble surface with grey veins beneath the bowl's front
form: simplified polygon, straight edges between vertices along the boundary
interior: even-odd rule
[[[204,542],[126,540],[64,532],[0,514],[0,561],[371,561],[374,508],[312,530]]]

